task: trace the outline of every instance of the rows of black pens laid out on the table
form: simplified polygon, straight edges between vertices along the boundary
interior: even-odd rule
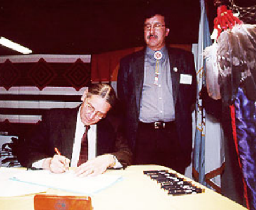
[[[177,174],[170,173],[167,170],[143,171],[143,173],[157,181],[162,189],[167,190],[168,194],[173,196],[205,192],[205,189],[192,185],[191,181],[186,181],[184,178],[178,177]]]

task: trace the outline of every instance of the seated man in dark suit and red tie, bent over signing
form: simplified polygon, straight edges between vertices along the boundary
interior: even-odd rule
[[[78,166],[75,173],[84,177],[131,164],[132,153],[118,131],[118,118],[107,115],[116,101],[114,89],[95,84],[81,100],[79,107],[54,108],[42,116],[18,155],[22,166],[53,173]]]

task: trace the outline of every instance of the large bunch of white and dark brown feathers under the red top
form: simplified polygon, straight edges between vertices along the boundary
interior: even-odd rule
[[[205,49],[206,75],[210,75],[212,69],[218,72],[222,101],[232,104],[239,86],[243,87],[248,99],[256,100],[256,25],[235,25],[221,32],[214,44],[215,47]],[[211,80],[216,80],[216,76],[206,80],[207,88],[216,88]]]

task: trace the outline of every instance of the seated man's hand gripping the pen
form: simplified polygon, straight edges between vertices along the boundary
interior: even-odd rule
[[[54,155],[43,162],[43,168],[53,173],[64,173],[68,170],[70,160],[62,155]]]

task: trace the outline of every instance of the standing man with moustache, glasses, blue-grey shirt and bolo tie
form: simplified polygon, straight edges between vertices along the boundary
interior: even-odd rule
[[[147,15],[147,46],[121,59],[117,93],[135,163],[164,165],[184,174],[191,161],[196,73],[191,52],[165,46],[167,24],[161,12]]]

